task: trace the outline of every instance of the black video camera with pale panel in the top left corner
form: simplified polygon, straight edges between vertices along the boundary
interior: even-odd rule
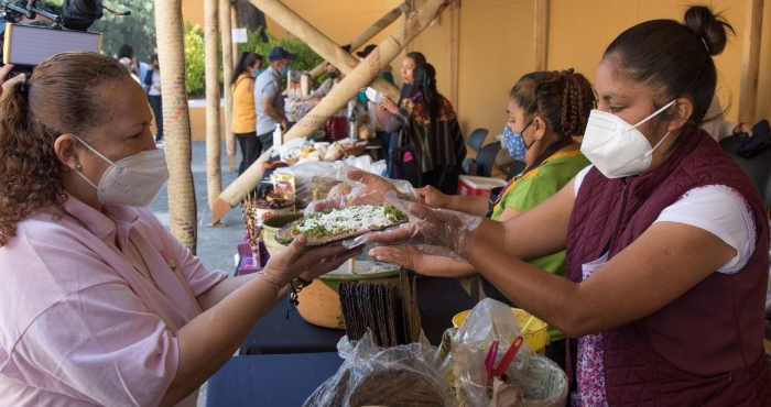
[[[0,0],[2,64],[32,73],[54,54],[101,51],[101,34],[88,28],[102,15],[101,0],[64,0],[61,7],[39,0]]]

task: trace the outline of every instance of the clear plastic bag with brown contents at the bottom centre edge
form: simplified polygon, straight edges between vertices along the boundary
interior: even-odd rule
[[[367,332],[303,406],[456,406],[452,384],[432,362],[434,351],[422,343],[380,349]]]

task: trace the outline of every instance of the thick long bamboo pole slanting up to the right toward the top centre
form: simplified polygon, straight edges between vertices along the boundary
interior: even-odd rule
[[[281,21],[280,18],[276,18],[276,15],[271,14],[271,11],[263,8],[264,3],[269,1],[273,0],[252,0],[252,2],[259,2],[260,9],[267,14],[270,14],[273,20],[276,22]],[[324,122],[352,98],[362,86],[366,86],[366,84],[381,70],[383,65],[399,55],[406,44],[425,30],[431,21],[449,6],[450,2],[452,0],[426,1],[421,9],[412,13],[409,19],[405,19],[404,24],[394,30],[391,36],[383,40],[378,47],[365,58],[363,63],[352,69],[308,114],[290,129],[284,135],[284,141],[307,136],[313,133],[315,129],[322,127]],[[303,38],[303,36],[297,33],[295,33],[295,35]],[[315,40],[317,38],[314,38],[314,42]],[[312,47],[315,45],[311,42],[308,43]],[[335,50],[347,55],[347,53],[339,47],[335,47]],[[262,163],[268,160],[272,150],[273,148],[269,148],[264,152],[257,163],[247,168],[240,177],[220,194],[219,199],[211,208],[213,221],[217,221],[225,216],[225,213],[237,206],[241,199],[260,183],[262,179]]]

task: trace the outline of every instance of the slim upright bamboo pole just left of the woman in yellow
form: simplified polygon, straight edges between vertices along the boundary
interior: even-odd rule
[[[230,4],[230,0],[219,0],[219,21],[222,28],[222,92],[225,94],[225,145],[228,152],[228,169],[230,169],[231,173],[235,173],[236,135],[234,135],[234,133],[230,131],[230,121],[232,120],[232,91],[230,89],[230,82],[232,81],[234,57],[237,58],[238,54],[235,54],[232,52],[234,47],[231,31],[231,9],[234,9],[234,7]],[[219,52],[219,50],[215,51],[215,53],[211,54],[211,57],[215,59],[219,59],[217,58],[217,52]],[[209,199],[209,206],[211,206],[211,204],[213,202]]]

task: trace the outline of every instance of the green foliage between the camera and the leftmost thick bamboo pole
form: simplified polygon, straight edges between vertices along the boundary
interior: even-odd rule
[[[153,0],[109,0],[106,6],[117,11],[130,10],[131,15],[117,16],[104,13],[88,29],[102,33],[101,51],[106,55],[117,56],[123,44],[134,48],[139,61],[150,63],[150,56],[156,53],[155,44],[155,2]]]

